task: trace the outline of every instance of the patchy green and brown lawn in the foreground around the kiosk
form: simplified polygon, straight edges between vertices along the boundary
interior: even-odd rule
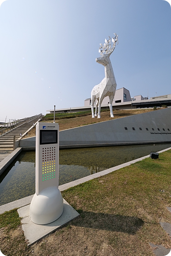
[[[1,252],[154,256],[149,242],[171,248],[170,237],[159,224],[171,223],[166,208],[171,206],[171,150],[159,154],[159,159],[146,158],[67,189],[62,196],[80,217],[29,248],[16,210],[1,214]],[[15,232],[17,236],[12,235]]]

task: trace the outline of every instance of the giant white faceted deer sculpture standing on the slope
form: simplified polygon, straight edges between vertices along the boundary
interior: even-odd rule
[[[110,54],[115,49],[115,44],[118,42],[118,35],[115,34],[115,37],[109,40],[105,39],[105,44],[100,44],[99,52],[101,57],[96,59],[96,62],[102,64],[104,66],[105,78],[96,85],[91,91],[91,111],[92,117],[94,118],[97,116],[97,108],[98,108],[98,118],[100,118],[100,109],[102,101],[105,97],[109,96],[109,107],[110,107],[110,116],[114,117],[113,109],[112,109],[112,102],[115,96],[116,91],[116,80],[113,72],[113,68],[110,61]],[[113,42],[113,46],[111,47],[111,41]],[[96,109],[94,114],[94,103],[97,99]]]

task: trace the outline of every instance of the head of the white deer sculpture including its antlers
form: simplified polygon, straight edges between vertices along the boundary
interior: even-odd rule
[[[116,42],[118,42],[118,35],[114,33],[115,37],[112,37],[112,39],[109,37],[109,40],[105,39],[105,44],[100,44],[99,47],[99,53],[100,57],[96,58],[96,62],[102,64],[103,66],[106,66],[110,63],[110,54],[114,51]],[[113,46],[111,46],[111,41],[113,42]]]

